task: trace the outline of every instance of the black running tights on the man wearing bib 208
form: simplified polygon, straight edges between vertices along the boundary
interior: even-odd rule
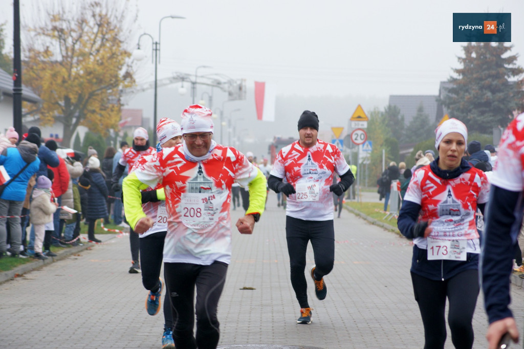
[[[171,296],[173,340],[177,349],[215,349],[220,338],[216,309],[224,288],[227,264],[164,263]],[[193,336],[196,286],[196,338]]]

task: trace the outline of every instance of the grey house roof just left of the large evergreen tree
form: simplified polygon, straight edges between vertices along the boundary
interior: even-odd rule
[[[420,103],[424,108],[424,113],[428,114],[431,121],[438,121],[443,115],[442,109],[436,102],[437,95],[390,95],[389,104],[400,108],[400,115],[404,115],[404,123],[409,125],[415,115]],[[440,109],[440,110],[439,110]]]

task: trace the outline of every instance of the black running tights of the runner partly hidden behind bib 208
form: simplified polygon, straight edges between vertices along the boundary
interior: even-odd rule
[[[158,292],[160,269],[162,268],[163,243],[167,232],[158,232],[140,237],[140,268],[142,270],[142,285],[148,291]],[[166,278],[164,277],[164,280]],[[164,325],[166,329],[173,328],[171,300],[166,291],[163,302]]]

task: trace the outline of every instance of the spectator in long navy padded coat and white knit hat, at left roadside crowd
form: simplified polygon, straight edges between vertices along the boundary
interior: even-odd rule
[[[95,222],[98,219],[104,219],[107,214],[107,195],[108,190],[105,185],[104,173],[100,169],[100,160],[92,156],[88,161],[89,166],[89,180],[91,186],[88,189],[88,206],[85,214],[85,219],[88,221],[88,238],[95,243],[101,243],[99,239],[95,238]]]

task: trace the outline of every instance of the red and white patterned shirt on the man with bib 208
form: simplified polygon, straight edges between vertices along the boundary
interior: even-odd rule
[[[166,192],[165,262],[230,263],[231,186],[234,181],[247,186],[258,175],[241,152],[216,145],[208,159],[192,162],[178,145],[141,157],[134,173],[141,183],[151,188],[159,185]]]

